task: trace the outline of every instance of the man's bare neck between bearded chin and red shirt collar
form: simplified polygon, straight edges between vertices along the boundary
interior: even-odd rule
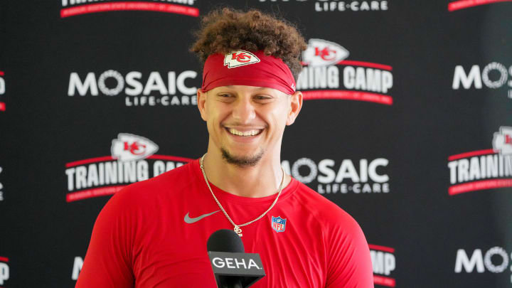
[[[229,164],[220,149],[211,146],[203,162],[210,183],[236,196],[260,198],[277,193],[283,181],[279,153],[265,153],[255,166],[240,167]],[[291,178],[284,175],[286,187]]]

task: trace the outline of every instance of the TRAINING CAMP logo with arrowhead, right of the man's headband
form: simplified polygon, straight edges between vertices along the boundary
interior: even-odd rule
[[[340,2],[341,3],[341,2]],[[302,53],[304,69],[297,80],[304,100],[338,99],[393,105],[390,65],[346,60],[348,50],[338,43],[309,39]]]

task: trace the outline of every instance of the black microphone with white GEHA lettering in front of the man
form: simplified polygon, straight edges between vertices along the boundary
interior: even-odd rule
[[[206,243],[218,288],[246,288],[265,276],[257,253],[245,253],[242,239],[233,230],[217,230]]]

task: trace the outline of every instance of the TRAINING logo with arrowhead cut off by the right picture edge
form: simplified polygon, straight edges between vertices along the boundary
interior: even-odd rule
[[[448,157],[449,195],[512,187],[512,127],[500,127],[492,144]]]

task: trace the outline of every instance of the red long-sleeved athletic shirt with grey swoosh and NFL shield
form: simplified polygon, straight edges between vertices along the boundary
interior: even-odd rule
[[[211,187],[235,223],[257,218],[276,196],[246,198]],[[198,160],[127,186],[98,215],[75,287],[216,287],[206,242],[216,230],[233,229],[218,210]],[[274,225],[281,232],[272,217],[286,219]],[[267,274],[254,288],[373,287],[359,225],[293,178],[274,208],[242,234],[245,252],[259,253]]]

